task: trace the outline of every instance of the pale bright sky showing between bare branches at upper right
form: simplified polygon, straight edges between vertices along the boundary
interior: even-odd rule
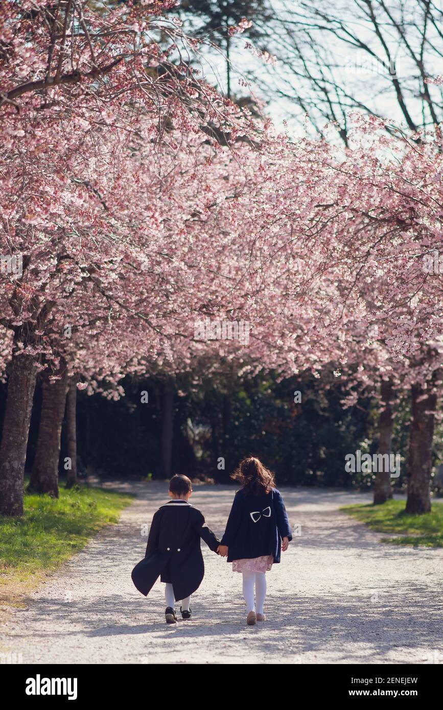
[[[295,36],[295,41],[300,42],[302,38],[302,28],[306,26],[308,13],[312,11],[312,6],[305,9],[306,3],[300,0],[268,0],[275,13],[280,17],[290,21],[290,31]],[[413,99],[412,93],[417,96],[419,82],[417,81],[417,67],[408,55],[405,44],[399,40],[398,31],[388,21],[380,9],[379,0],[373,0],[378,12],[383,38],[388,46],[393,63],[385,60],[385,51],[380,40],[373,32],[371,23],[368,22],[363,12],[366,4],[361,0],[316,0],[317,9],[327,11],[329,15],[334,13],[338,20],[346,21],[346,29],[351,33],[356,33],[371,50],[374,57],[371,58],[363,50],[353,47],[344,41],[334,39],[334,36],[327,31],[314,31],[312,34],[318,40],[318,50],[306,50],[306,55],[310,62],[315,62],[315,75],[321,78],[323,72],[328,76],[328,65],[334,65],[334,77],[344,87],[345,91],[356,95],[362,104],[366,104],[373,111],[384,116],[390,121],[401,124],[404,117],[395,99],[393,92],[392,75],[400,80],[402,87],[408,96],[408,107],[416,122],[421,122],[422,102]],[[378,6],[378,10],[377,10]],[[415,50],[420,43],[419,29],[422,27],[422,3],[420,0],[387,0],[388,10],[393,18],[403,21],[403,26],[408,33],[408,41]],[[436,0],[434,6],[443,13],[443,0]],[[443,14],[442,14],[443,18]],[[258,26],[260,23],[258,21]],[[186,28],[186,24],[185,24]],[[443,21],[442,28],[443,31]],[[256,94],[266,102],[266,114],[273,119],[275,124],[281,128],[283,121],[288,121],[290,133],[302,135],[305,131],[303,127],[303,111],[297,108],[296,99],[301,96],[308,103],[311,102],[310,112],[315,114],[315,94],[305,80],[297,77],[296,71],[300,65],[292,62],[292,67],[288,66],[285,58],[288,56],[288,48],[291,46],[291,39],[285,35],[281,26],[278,28],[263,28],[266,33],[263,37],[262,46],[268,46],[270,52],[275,55],[275,65],[268,65],[261,58],[254,55],[253,50],[245,48],[246,42],[251,42],[246,35],[237,34],[232,42],[231,48],[231,87],[236,95],[245,95],[249,91]],[[443,40],[438,36],[437,29],[433,30],[430,23],[427,24],[427,33],[430,41],[439,51],[443,51]],[[346,35],[345,35],[346,36]],[[292,40],[294,41],[294,40]],[[443,75],[443,58],[437,52],[432,52],[430,48],[425,50],[425,66],[429,75]],[[384,65],[381,61],[383,60]],[[207,53],[207,61],[204,62],[204,73],[207,79],[217,84],[226,92],[226,65],[222,53],[214,51]],[[244,87],[245,78],[249,80],[248,87]],[[282,89],[283,92],[290,93],[290,98],[277,97],[275,89]],[[440,89],[432,89],[439,92]],[[312,105],[312,101],[314,104]],[[295,119],[295,114],[298,114]],[[324,119],[319,119],[320,123]]]

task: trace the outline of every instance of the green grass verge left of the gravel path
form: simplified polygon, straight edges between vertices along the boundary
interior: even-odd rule
[[[127,493],[60,486],[60,498],[25,494],[23,518],[0,515],[0,604],[21,606],[50,572],[119,520]]]

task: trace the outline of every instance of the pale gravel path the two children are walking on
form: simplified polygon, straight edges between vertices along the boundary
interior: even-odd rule
[[[0,651],[24,663],[426,663],[443,662],[443,550],[381,545],[338,508],[366,495],[282,488],[301,525],[268,572],[268,620],[245,624],[241,575],[202,543],[206,575],[194,618],[163,621],[164,585],[145,598],[131,582],[144,555],[143,523],[165,501],[165,484],[106,484],[136,501],[14,609]],[[217,534],[234,488],[198,486],[191,502]]]

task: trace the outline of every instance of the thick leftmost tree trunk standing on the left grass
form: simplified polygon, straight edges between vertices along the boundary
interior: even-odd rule
[[[0,447],[3,515],[23,515],[23,478],[36,376],[35,356],[13,355]]]

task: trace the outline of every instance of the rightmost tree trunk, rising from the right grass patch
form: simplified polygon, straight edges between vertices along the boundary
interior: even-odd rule
[[[406,513],[429,513],[431,510],[431,452],[434,435],[434,410],[437,394],[412,385],[412,427],[409,440],[408,501]]]

